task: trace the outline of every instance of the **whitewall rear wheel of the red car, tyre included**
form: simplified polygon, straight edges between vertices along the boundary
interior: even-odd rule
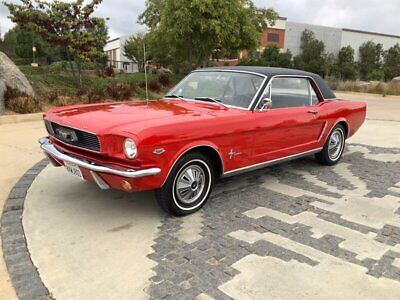
[[[323,165],[333,166],[337,164],[343,155],[346,143],[346,134],[342,125],[336,125],[325,142],[321,152],[315,158]]]

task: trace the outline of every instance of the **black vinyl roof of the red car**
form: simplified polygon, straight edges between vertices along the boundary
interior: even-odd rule
[[[285,69],[285,68],[271,68],[271,67],[235,66],[235,67],[204,68],[204,69],[199,69],[197,71],[229,71],[229,70],[258,73],[258,74],[268,76],[269,79],[273,76],[279,76],[279,75],[280,76],[282,76],[282,75],[308,76],[308,77],[311,77],[314,79],[314,81],[318,85],[324,99],[335,99],[336,98],[336,95],[332,92],[332,90],[329,88],[329,86],[326,84],[326,82],[324,81],[324,79],[322,79],[321,76],[319,76],[318,74],[301,71],[301,70]]]

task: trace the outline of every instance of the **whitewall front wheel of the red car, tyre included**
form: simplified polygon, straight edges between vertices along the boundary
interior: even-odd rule
[[[164,186],[156,191],[157,202],[174,216],[192,214],[206,203],[214,177],[207,156],[201,153],[184,155],[173,167]]]

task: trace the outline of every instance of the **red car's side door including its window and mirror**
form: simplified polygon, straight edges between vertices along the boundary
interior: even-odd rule
[[[265,96],[271,99],[272,107],[255,111],[255,163],[316,148],[325,123],[319,115],[320,96],[310,79],[273,78]]]

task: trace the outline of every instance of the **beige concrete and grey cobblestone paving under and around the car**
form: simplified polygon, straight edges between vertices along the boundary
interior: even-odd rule
[[[46,167],[22,218],[42,282],[56,299],[399,299],[400,106],[379,100],[339,165],[223,180],[185,218]]]

